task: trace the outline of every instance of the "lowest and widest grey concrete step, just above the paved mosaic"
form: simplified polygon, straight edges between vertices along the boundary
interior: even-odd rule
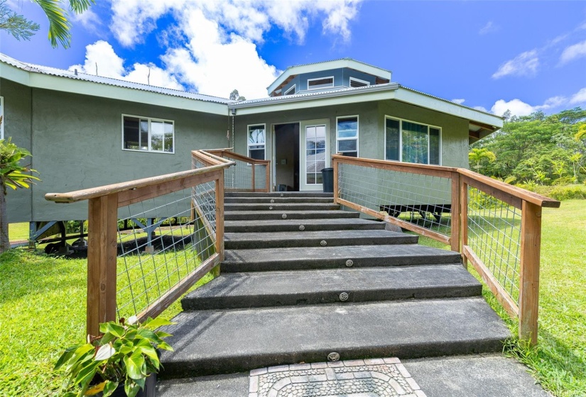
[[[369,357],[499,352],[510,337],[482,297],[190,311],[164,328],[163,378]]]

